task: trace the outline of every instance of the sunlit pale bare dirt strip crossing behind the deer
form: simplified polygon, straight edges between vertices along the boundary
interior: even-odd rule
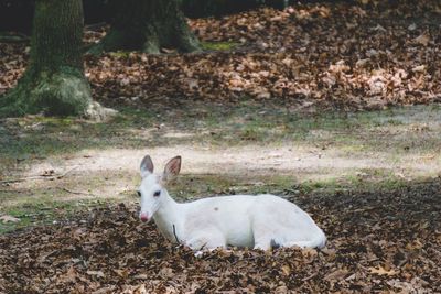
[[[174,115],[169,113],[164,120]],[[24,161],[17,172],[9,170],[8,178],[25,181],[10,183],[7,189],[22,194],[58,189],[62,198],[67,197],[67,193],[71,194],[67,198],[75,199],[94,196],[123,200],[136,189],[139,162],[146,154],[153,157],[159,171],[168,159],[182,155],[184,178],[227,178],[229,183],[217,184],[222,188],[228,188],[228,184],[265,186],[275,181],[284,186],[387,184],[437,178],[441,173],[441,109],[438,106],[353,113],[352,118],[343,119],[326,117],[323,118],[326,124],[305,117],[294,121],[298,129],[290,129],[283,122],[268,126],[271,116],[240,112],[232,120],[248,115],[254,118],[251,122],[244,121],[239,127],[217,121],[209,127],[176,126],[170,121],[159,129],[128,128],[123,130],[128,140],[141,137],[146,141],[136,146],[111,142],[106,148],[85,148],[30,163]],[[277,116],[280,119],[280,115]],[[289,115],[284,117],[289,119]],[[35,122],[26,123],[34,126]],[[44,122],[39,126],[44,128]],[[301,130],[301,126],[306,127]],[[234,128],[239,128],[243,138],[239,134],[237,139],[225,139],[232,135]],[[213,133],[219,135],[213,139]],[[299,133],[304,140],[295,139]],[[35,135],[32,131],[30,134]],[[73,139],[65,143],[77,142]],[[47,181],[47,176],[56,175],[63,176]],[[11,198],[11,202],[17,199]]]

